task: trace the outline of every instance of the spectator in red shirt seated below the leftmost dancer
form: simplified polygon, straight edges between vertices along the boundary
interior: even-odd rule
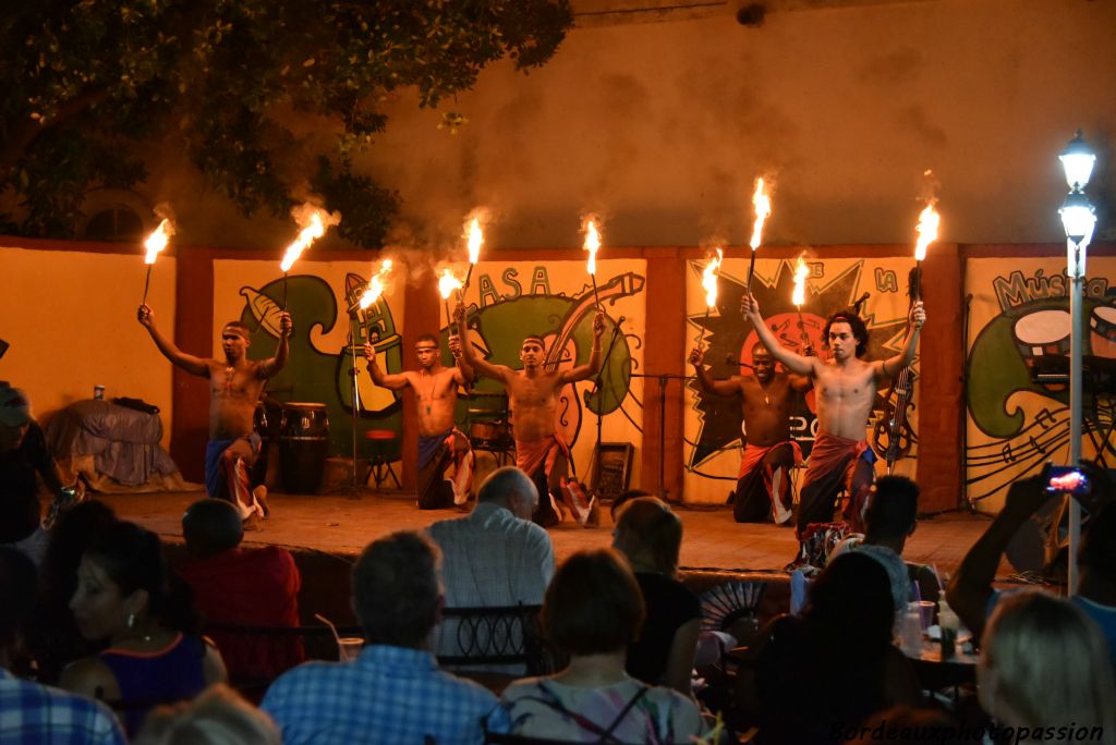
[[[295,558],[283,548],[240,546],[240,513],[224,500],[203,499],[186,507],[182,535],[190,561],[180,569],[205,623],[297,627],[302,583]],[[221,650],[233,680],[270,680],[306,655],[297,638],[205,629]]]

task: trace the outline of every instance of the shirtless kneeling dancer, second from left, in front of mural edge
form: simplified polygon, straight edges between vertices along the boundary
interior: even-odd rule
[[[419,408],[419,509],[439,510],[464,504],[473,486],[473,453],[469,438],[453,423],[458,390],[473,381],[473,370],[461,359],[461,342],[450,337],[455,367],[442,365],[437,337],[423,333],[415,342],[419,370],[387,375],[376,364],[376,350],[364,346],[372,381],[382,388],[402,390],[411,386]],[[453,478],[444,473],[453,463]]]

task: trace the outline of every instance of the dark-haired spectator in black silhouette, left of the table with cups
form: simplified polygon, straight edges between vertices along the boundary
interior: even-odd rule
[[[760,743],[827,743],[835,725],[855,726],[922,694],[910,661],[892,645],[895,604],[886,570],[859,552],[835,558],[811,583],[801,616],[781,616],[753,650]]]

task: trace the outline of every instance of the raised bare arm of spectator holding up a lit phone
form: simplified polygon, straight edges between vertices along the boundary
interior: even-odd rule
[[[969,627],[975,639],[984,630],[988,601],[992,597],[992,580],[1011,539],[1042,503],[1050,499],[1038,476],[1017,481],[1008,490],[1003,509],[984,534],[969,549],[961,565],[950,580],[945,599]]]

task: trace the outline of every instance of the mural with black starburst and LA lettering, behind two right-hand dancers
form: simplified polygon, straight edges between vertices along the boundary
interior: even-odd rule
[[[792,302],[796,261],[756,261],[752,292],[760,303],[764,320],[786,348],[805,354],[807,346],[825,355],[822,329],[826,318],[857,302],[860,317],[868,327],[868,359],[881,359],[898,352],[906,336],[910,308],[907,281],[913,259],[819,259],[806,252],[808,268],[806,298],[799,309]],[[716,307],[709,308],[701,284],[705,261],[690,262],[686,279],[686,352],[699,344],[705,351],[705,365],[713,378],[748,375],[752,347],[759,340],[756,330],[740,315],[740,301],[748,281],[748,260],[727,258],[718,273]],[[927,322],[932,323],[933,319]],[[693,368],[687,365],[687,374]],[[781,367],[780,367],[781,369]],[[918,358],[913,371],[914,406],[908,412],[907,426],[902,432],[906,454],[895,464],[895,473],[914,475],[918,453]],[[742,429],[740,401],[737,398],[706,395],[693,378],[685,386],[684,418],[686,502],[722,504],[735,486],[740,454],[747,443]],[[886,435],[879,432],[889,389],[876,397],[865,434],[877,453],[887,447]],[[814,391],[798,401],[791,422],[791,437],[808,457],[817,434]],[[799,474],[800,475],[800,474]],[[798,476],[796,476],[797,481]]]

